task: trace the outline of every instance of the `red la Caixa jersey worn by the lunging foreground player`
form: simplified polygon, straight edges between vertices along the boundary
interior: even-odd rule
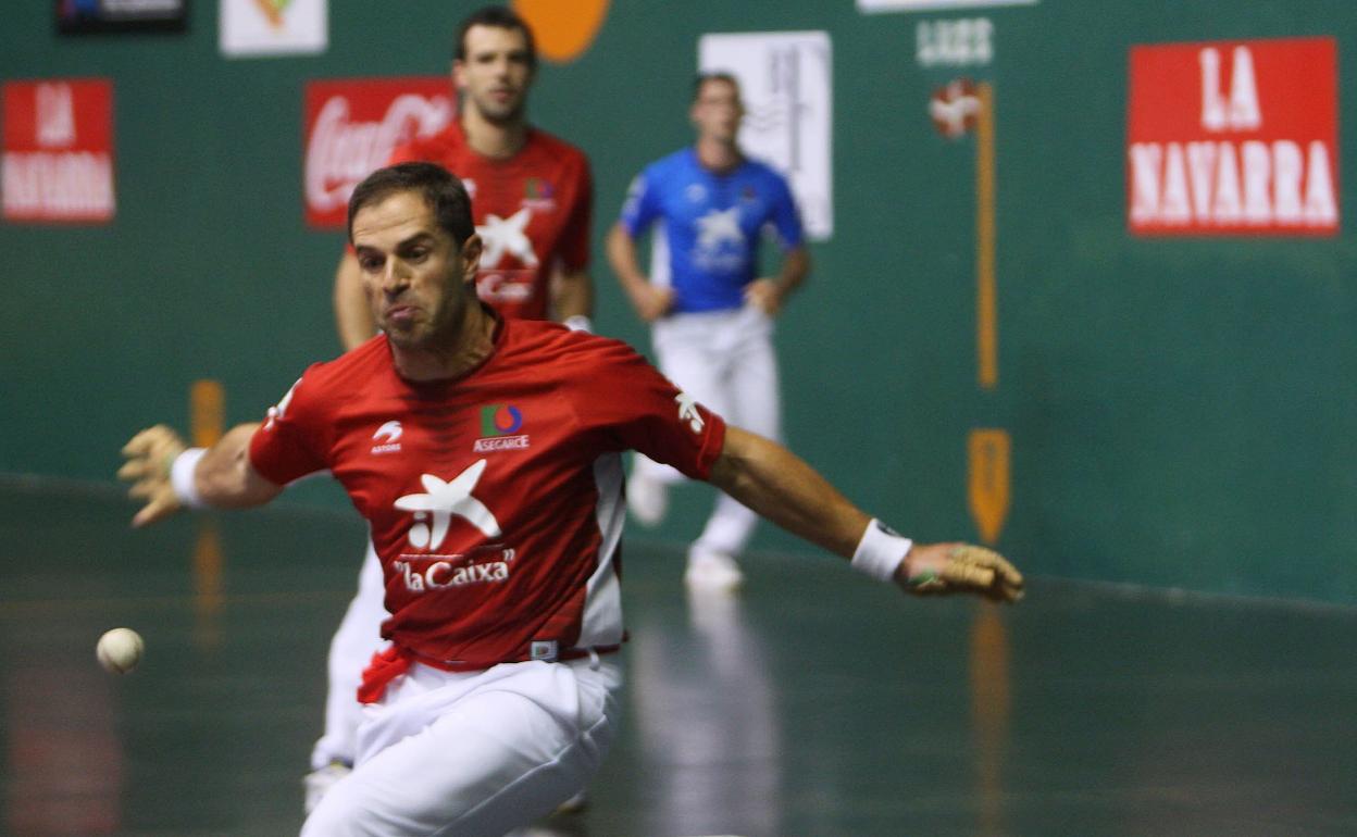
[[[449,667],[622,642],[622,452],[706,479],[722,419],[626,343],[503,320],[459,378],[402,378],[384,335],[309,368],[255,433],[278,484],[328,469],[368,520],[381,634]]]

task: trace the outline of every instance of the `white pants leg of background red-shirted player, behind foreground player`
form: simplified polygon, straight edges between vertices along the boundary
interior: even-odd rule
[[[331,761],[353,764],[357,756],[356,731],[362,722],[358,703],[358,682],[375,651],[385,646],[381,623],[387,619],[385,590],[381,582],[381,562],[368,541],[368,553],[358,571],[358,593],[349,602],[339,629],[330,640],[327,673],[330,692],[326,695],[326,730],[311,750],[311,768],[323,768]]]

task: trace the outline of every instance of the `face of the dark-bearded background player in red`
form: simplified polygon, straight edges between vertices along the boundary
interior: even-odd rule
[[[472,26],[463,41],[465,58],[453,61],[452,79],[467,107],[490,122],[521,119],[532,85],[528,39],[517,28]]]

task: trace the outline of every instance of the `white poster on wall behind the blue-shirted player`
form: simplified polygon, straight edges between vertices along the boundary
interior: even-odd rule
[[[740,145],[787,176],[816,241],[835,231],[830,58],[822,31],[712,34],[697,42],[702,72],[740,80],[746,111]]]

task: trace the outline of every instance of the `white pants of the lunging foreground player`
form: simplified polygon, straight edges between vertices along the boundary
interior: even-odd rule
[[[303,837],[502,837],[569,799],[617,728],[611,659],[422,665],[364,709],[358,760]]]

